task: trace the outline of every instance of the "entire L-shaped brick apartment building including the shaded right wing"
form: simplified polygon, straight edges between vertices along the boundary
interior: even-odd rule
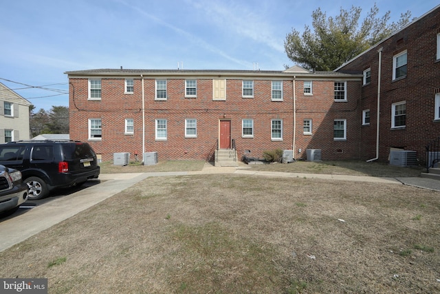
[[[104,161],[149,151],[212,160],[217,148],[235,148],[238,158],[280,148],[294,158],[319,149],[323,160],[382,161],[397,148],[423,161],[440,134],[440,6],[333,72],[66,74],[70,138],[89,142]]]

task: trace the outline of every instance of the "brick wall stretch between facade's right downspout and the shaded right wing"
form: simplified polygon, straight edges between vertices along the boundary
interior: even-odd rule
[[[313,95],[305,96],[304,81],[296,81],[296,151],[306,158],[306,149],[322,149],[322,159],[358,159],[360,140],[360,81],[347,81],[347,102],[335,102],[335,81],[313,81]],[[303,120],[312,120],[312,135],[303,133]],[[335,119],[347,120],[347,140],[333,139]],[[298,152],[301,149],[301,152]]]

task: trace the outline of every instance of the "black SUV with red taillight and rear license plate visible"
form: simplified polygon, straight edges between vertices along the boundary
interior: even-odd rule
[[[0,165],[21,171],[28,198],[98,178],[100,167],[89,144],[73,140],[20,140],[0,144]]]

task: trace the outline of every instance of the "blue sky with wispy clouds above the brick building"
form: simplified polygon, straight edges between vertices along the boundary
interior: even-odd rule
[[[36,111],[69,106],[67,75],[98,68],[283,70],[292,28],[311,26],[321,8],[373,1],[343,0],[16,0],[2,1],[0,82],[27,98]],[[391,21],[410,10],[420,17],[438,0],[377,0]],[[24,85],[23,85],[24,84]],[[41,89],[45,88],[45,89]]]

